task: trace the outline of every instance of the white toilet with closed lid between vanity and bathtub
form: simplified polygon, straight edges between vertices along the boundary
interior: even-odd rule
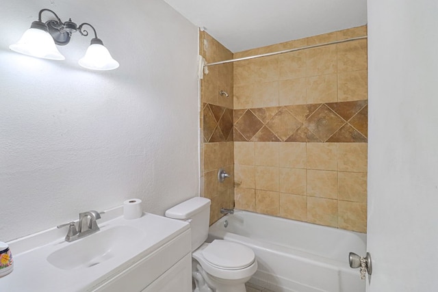
[[[194,292],[245,292],[245,282],[257,271],[253,250],[240,243],[208,236],[210,200],[196,197],[166,211],[166,217],[190,222]]]

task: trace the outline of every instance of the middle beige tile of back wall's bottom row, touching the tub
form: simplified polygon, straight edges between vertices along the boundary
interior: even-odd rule
[[[291,194],[280,194],[280,216],[292,220],[307,220],[307,198]]]

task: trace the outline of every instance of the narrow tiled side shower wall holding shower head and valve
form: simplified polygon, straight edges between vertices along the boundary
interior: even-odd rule
[[[207,63],[233,59],[233,53],[200,31],[199,51]],[[220,90],[229,97],[220,95]],[[211,199],[210,224],[221,214],[220,208],[234,205],[233,152],[233,64],[210,66],[201,80],[201,189]],[[231,178],[218,182],[218,170],[224,168]]]

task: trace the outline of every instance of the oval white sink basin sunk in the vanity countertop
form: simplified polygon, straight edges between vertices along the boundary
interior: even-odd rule
[[[132,248],[146,234],[133,226],[114,226],[107,230],[73,241],[64,248],[52,252],[47,261],[60,269],[93,267]]]

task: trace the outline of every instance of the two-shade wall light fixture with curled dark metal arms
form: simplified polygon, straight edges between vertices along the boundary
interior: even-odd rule
[[[56,20],[41,21],[41,14],[44,11],[53,13]],[[82,36],[88,36],[88,31],[83,29],[88,25],[94,31],[94,38],[91,40],[85,55],[79,59],[79,65],[92,70],[113,70],[118,68],[118,62],[111,57],[110,52],[103,46],[100,38],[97,38],[96,29],[90,23],[77,25],[71,18],[63,23],[55,12],[49,9],[42,9],[38,14],[38,21],[34,21],[31,27],[25,31],[16,44],[11,44],[12,51],[39,57],[43,59],[63,60],[65,57],[57,50],[55,44],[65,45],[70,42],[70,37],[76,31]]]

